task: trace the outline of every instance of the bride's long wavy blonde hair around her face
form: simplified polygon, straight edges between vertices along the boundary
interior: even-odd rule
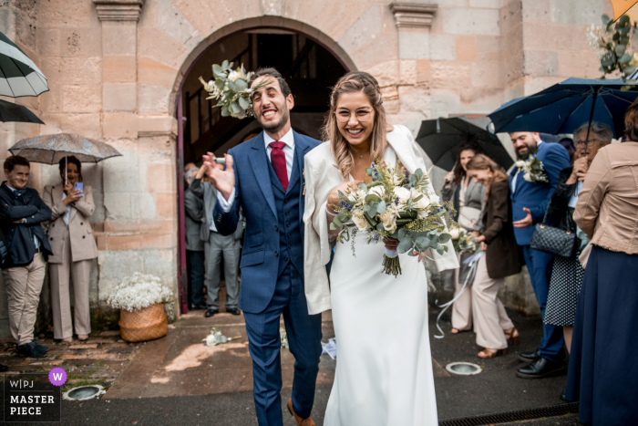
[[[322,136],[324,140],[330,140],[330,148],[333,152],[336,165],[344,177],[347,177],[355,165],[352,147],[344,135],[341,134],[336,123],[336,104],[339,97],[344,93],[364,92],[370,100],[370,104],[375,111],[375,124],[370,133],[370,155],[373,153],[383,156],[386,150],[386,109],[383,106],[381,88],[376,82],[376,78],[363,71],[349,72],[344,77],[339,78],[330,95],[330,111],[324,120]]]

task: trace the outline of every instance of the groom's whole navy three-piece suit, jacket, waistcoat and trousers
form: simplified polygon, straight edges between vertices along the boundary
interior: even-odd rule
[[[293,409],[310,417],[319,371],[321,315],[309,315],[304,292],[304,155],[319,145],[294,132],[293,170],[287,191],[273,171],[263,133],[229,151],[235,172],[235,199],[225,213],[215,205],[213,220],[232,234],[242,207],[246,218],[239,307],[246,320],[252,356],[254,400],[260,425],[282,424],[281,339],[283,320],[295,358]]]

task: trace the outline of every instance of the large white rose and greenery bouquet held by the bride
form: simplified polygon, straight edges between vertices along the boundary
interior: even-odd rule
[[[331,205],[338,214],[330,229],[341,229],[337,241],[349,241],[357,232],[365,233],[367,244],[392,237],[399,241],[396,251],[386,249],[384,272],[401,274],[398,254],[412,250],[425,252],[434,249],[439,255],[448,251],[444,244],[450,240],[446,225],[448,203],[440,202],[429,190],[427,173],[420,169],[410,174],[397,163],[389,168],[376,160],[366,170],[370,183],[352,185],[346,193],[339,192],[339,203]],[[354,240],[353,240],[354,251]]]

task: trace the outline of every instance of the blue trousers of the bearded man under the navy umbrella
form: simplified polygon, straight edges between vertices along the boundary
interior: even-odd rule
[[[540,315],[545,318],[547,296],[550,293],[551,265],[553,255],[532,250],[529,245],[523,245],[525,264],[530,272],[531,286],[534,288],[536,300],[539,302]],[[542,358],[558,361],[564,339],[562,328],[543,323],[543,337],[540,339],[539,354]]]

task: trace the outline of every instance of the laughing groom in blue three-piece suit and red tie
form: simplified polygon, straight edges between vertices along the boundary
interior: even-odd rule
[[[213,220],[222,235],[235,231],[240,207],[246,218],[240,267],[239,307],[246,320],[252,356],[254,400],[260,426],[282,425],[281,340],[279,318],[295,358],[293,397],[288,410],[297,425],[314,426],[310,417],[319,371],[321,315],[308,315],[304,293],[304,155],[321,142],[292,130],[294,100],[282,75],[259,69],[251,87],[252,109],[262,133],[232,148],[226,167],[204,155],[218,189]]]

